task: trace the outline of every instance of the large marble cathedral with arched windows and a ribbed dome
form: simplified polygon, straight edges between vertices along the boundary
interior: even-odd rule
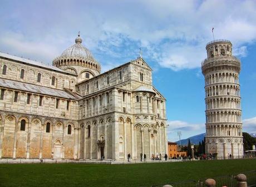
[[[78,35],[52,65],[6,53],[0,65],[0,159],[167,153],[166,100],[143,58],[101,73]]]

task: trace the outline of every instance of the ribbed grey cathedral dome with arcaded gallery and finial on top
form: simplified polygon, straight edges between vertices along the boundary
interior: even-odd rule
[[[96,70],[100,73],[101,66],[92,56],[91,52],[82,45],[82,38],[78,34],[75,44],[68,47],[62,54],[53,60],[56,67],[62,66],[81,66],[88,69]],[[62,67],[63,68],[63,67]]]

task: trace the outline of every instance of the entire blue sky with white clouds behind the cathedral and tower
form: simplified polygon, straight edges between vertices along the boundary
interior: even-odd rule
[[[256,1],[6,1],[0,7],[0,50],[52,63],[81,32],[102,71],[137,58],[154,69],[167,99],[168,138],[204,133],[205,45],[229,39],[242,60],[244,131],[256,133]]]

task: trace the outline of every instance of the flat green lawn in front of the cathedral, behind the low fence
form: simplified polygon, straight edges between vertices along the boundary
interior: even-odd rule
[[[0,164],[0,186],[151,186],[255,170],[252,160],[146,164]]]

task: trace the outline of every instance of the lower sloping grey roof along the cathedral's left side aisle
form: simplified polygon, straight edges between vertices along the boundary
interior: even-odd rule
[[[25,92],[27,91],[27,92],[33,92],[33,93],[38,93],[43,95],[51,95],[51,96],[60,97],[60,98],[77,99],[72,94],[67,93],[64,90],[42,87],[40,85],[23,83],[23,82],[18,82],[18,81],[9,80],[9,79],[0,78],[0,86],[4,88],[23,90]]]

